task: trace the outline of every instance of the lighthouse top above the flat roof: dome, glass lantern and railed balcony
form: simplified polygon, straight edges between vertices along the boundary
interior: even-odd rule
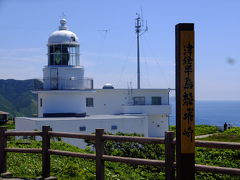
[[[48,65],[43,68],[44,89],[92,89],[93,80],[84,78],[79,63],[79,40],[69,31],[65,19],[48,39]]]

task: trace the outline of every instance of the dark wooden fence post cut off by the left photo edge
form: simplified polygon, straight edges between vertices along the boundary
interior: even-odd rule
[[[0,127],[0,174],[7,171],[7,155],[5,152],[7,146],[7,137],[5,136],[6,131],[7,127]]]

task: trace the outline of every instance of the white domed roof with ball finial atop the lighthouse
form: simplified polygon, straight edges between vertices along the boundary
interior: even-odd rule
[[[48,45],[52,44],[72,44],[78,45],[79,40],[75,33],[67,30],[66,19],[60,20],[59,30],[53,32],[48,38]]]

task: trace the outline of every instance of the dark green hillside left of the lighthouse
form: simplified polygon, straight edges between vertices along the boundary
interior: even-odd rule
[[[37,96],[31,91],[41,87],[37,79],[0,80],[0,111],[12,116],[31,116],[37,113]]]

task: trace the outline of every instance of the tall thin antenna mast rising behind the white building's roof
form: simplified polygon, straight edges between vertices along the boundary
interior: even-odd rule
[[[139,37],[148,30],[147,23],[146,28],[143,25],[143,17],[141,13],[136,13],[137,18],[135,19],[135,31],[137,33],[137,88],[140,89],[140,49],[139,49]]]

